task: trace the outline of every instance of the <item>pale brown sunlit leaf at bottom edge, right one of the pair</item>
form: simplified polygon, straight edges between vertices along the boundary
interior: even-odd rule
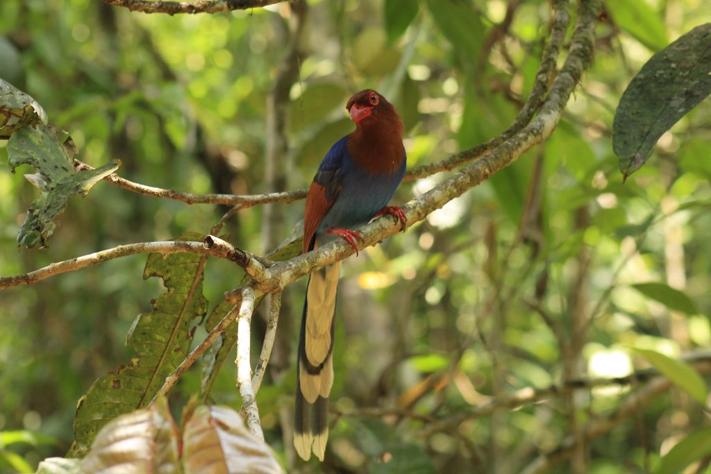
[[[284,471],[264,441],[247,430],[242,417],[224,406],[198,406],[183,435],[186,474]]]

